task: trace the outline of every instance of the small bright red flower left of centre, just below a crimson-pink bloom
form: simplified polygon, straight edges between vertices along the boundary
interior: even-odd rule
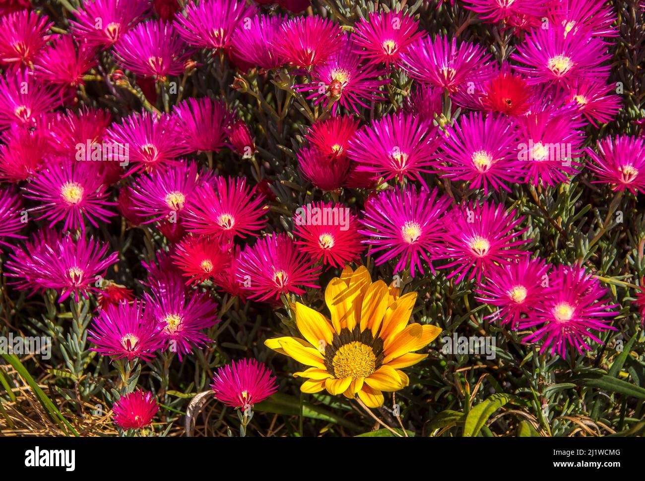
[[[228,264],[228,253],[219,242],[208,237],[188,236],[177,244],[172,258],[186,284],[201,284],[221,273]]]

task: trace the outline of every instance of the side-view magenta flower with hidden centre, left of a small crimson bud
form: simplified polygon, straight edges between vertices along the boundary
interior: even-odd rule
[[[208,97],[187,99],[175,107],[174,113],[189,152],[219,152],[233,115],[223,101]]]

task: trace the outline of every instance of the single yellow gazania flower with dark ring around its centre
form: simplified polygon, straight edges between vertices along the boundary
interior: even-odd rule
[[[382,280],[372,282],[364,266],[346,267],[324,292],[332,320],[296,302],[295,322],[304,339],[278,337],[264,344],[311,366],[294,374],[307,378],[303,393],[327,389],[352,399],[358,395],[369,407],[382,406],[382,391],[410,384],[400,369],[427,357],[412,351],[441,333],[437,326],[408,325],[417,293],[399,294]]]

